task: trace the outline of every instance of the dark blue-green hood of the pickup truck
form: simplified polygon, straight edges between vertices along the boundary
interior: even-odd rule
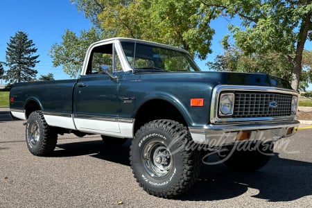
[[[267,73],[239,73],[220,71],[159,72],[141,73],[141,80],[180,80],[185,82],[205,82],[216,85],[250,85],[292,89],[287,80]]]

